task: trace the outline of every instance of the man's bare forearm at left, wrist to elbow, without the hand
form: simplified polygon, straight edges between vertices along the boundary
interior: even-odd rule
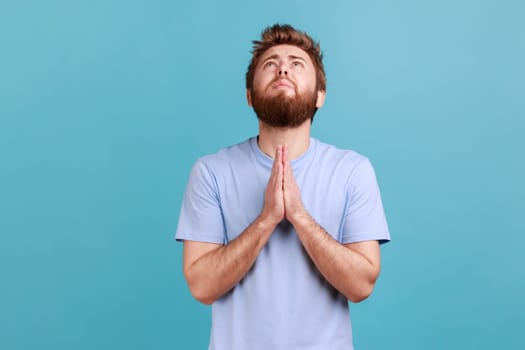
[[[192,294],[211,304],[232,289],[250,270],[275,225],[257,217],[237,238],[189,266],[185,275]]]

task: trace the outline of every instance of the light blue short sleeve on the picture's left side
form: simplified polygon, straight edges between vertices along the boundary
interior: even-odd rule
[[[224,237],[217,184],[208,166],[199,159],[190,173],[175,239],[223,244]]]

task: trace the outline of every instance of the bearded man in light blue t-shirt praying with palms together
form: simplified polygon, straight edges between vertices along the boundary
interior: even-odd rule
[[[259,135],[194,165],[175,235],[184,275],[212,304],[209,349],[353,349],[348,301],[372,293],[390,240],[375,173],[310,136],[326,95],[319,44],[278,24],[253,44]]]

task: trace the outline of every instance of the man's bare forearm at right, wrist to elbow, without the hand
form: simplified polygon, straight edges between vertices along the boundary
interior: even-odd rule
[[[308,255],[327,281],[347,299],[359,302],[373,290],[379,264],[332,238],[312,217],[292,223]]]

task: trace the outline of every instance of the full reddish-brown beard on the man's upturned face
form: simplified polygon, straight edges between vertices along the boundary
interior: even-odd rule
[[[252,106],[257,118],[264,124],[277,128],[294,128],[310,119],[313,121],[317,111],[317,93],[307,91],[302,95],[295,88],[294,96],[284,91],[275,96],[261,96],[252,90]]]

